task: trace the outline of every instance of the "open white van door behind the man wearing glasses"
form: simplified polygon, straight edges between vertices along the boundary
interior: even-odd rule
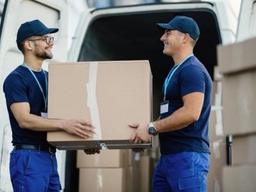
[[[67,2],[58,0],[6,0],[0,26],[0,191],[12,191],[9,161],[12,150],[10,127],[3,82],[6,76],[22,61],[23,56],[16,44],[16,35],[23,22],[39,19],[48,27],[59,28],[54,33],[54,58],[51,61],[67,61]],[[47,70],[48,61],[43,68]],[[65,152],[57,153],[61,185],[64,185]]]

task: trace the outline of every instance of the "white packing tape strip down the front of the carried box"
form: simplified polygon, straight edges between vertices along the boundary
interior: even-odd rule
[[[100,127],[100,116],[97,105],[97,97],[96,97],[96,86],[97,86],[97,70],[98,70],[98,62],[92,61],[90,62],[90,70],[89,70],[89,81],[86,83],[87,87],[87,106],[90,108],[90,114],[92,118],[92,124],[95,127],[95,134],[93,138],[101,139],[101,127]]]

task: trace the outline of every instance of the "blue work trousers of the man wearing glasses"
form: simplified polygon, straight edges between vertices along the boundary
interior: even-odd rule
[[[56,155],[39,150],[12,150],[10,176],[14,192],[60,191]]]

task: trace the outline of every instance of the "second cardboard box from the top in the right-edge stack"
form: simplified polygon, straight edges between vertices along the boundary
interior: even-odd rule
[[[224,134],[256,132],[256,70],[223,79]]]

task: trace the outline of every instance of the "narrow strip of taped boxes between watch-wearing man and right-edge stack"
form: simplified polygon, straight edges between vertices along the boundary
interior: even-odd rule
[[[221,188],[221,170],[227,161],[226,142],[222,126],[222,83],[214,81],[212,87],[212,107],[209,118],[210,169],[207,174],[207,190],[219,192]]]

